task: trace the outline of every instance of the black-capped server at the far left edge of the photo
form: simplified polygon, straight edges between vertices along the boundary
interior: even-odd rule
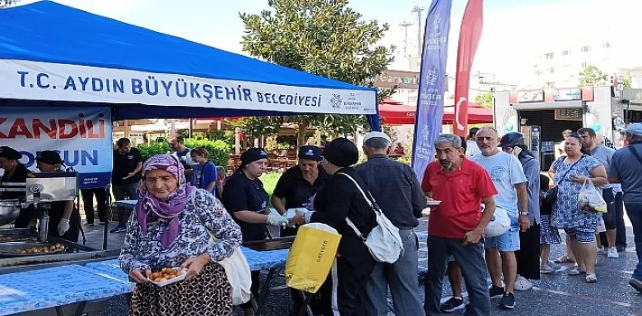
[[[27,180],[31,172],[20,163],[21,158],[22,154],[12,147],[0,147],[0,169],[4,170],[0,182],[24,183]],[[24,198],[24,192],[0,192],[0,199],[19,199],[20,197]],[[23,208],[13,222],[13,227],[27,228],[31,219],[33,219],[33,208]]]

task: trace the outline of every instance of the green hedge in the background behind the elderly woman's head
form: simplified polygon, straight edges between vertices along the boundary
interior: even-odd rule
[[[211,162],[217,166],[227,167],[227,160],[229,159],[231,149],[223,140],[187,138],[185,140],[185,146],[189,148],[205,147],[209,153],[209,160]],[[155,154],[166,154],[168,151],[171,151],[166,142],[141,144],[138,146],[138,149],[141,151],[143,159],[145,160]]]

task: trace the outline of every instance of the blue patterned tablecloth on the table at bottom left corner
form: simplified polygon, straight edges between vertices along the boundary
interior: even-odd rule
[[[0,276],[0,315],[105,299],[133,288],[79,265],[5,274]]]

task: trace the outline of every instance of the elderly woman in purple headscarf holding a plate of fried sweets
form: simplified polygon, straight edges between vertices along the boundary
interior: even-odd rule
[[[120,263],[137,283],[130,315],[232,315],[232,290],[218,265],[241,244],[241,229],[209,192],[187,186],[177,158],[162,154],[143,167],[140,197]],[[218,242],[211,244],[211,237]],[[164,267],[187,270],[183,281],[157,287]]]

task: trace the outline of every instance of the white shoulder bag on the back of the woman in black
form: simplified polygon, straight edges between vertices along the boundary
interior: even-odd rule
[[[348,226],[350,226],[354,233],[363,240],[374,260],[384,263],[397,262],[399,257],[403,256],[404,250],[401,237],[399,237],[399,229],[396,228],[390,220],[388,220],[383,212],[381,212],[370,192],[366,195],[357,181],[355,181],[351,176],[342,172],[339,172],[338,174],[352,180],[352,183],[356,185],[359,192],[361,192],[361,195],[363,195],[363,198],[370,206],[370,210],[372,210],[372,212],[377,216],[377,226],[370,231],[367,238],[363,238],[363,234],[359,229],[357,229],[352,221],[346,217],[345,221],[348,223]],[[372,199],[372,201],[370,201],[370,199]]]

